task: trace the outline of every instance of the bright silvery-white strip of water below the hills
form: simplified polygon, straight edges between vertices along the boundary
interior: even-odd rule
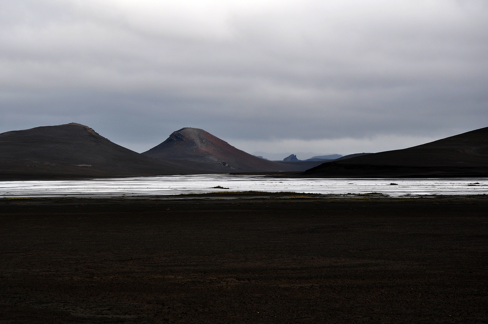
[[[390,184],[392,182],[396,184]],[[214,188],[216,186],[225,189]],[[395,197],[476,195],[488,194],[488,179],[292,179],[264,176],[192,175],[0,182],[0,198],[130,197],[250,190],[337,195],[377,192]]]

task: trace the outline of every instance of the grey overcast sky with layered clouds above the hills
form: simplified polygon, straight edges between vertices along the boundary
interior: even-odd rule
[[[486,0],[2,0],[0,132],[404,148],[488,126],[487,53]]]

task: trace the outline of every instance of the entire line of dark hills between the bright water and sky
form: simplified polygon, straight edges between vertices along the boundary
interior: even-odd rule
[[[285,160],[255,157],[190,127],[142,154],[78,123],[0,134],[3,180],[283,171],[314,178],[445,178],[488,177],[488,127],[402,150],[351,154],[327,162],[297,161],[294,155]]]

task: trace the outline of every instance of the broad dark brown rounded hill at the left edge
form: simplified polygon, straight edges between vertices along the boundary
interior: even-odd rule
[[[77,123],[0,134],[0,179],[179,173],[198,171],[143,156]]]

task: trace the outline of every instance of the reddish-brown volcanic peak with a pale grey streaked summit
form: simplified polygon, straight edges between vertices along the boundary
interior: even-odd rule
[[[293,166],[264,160],[235,148],[200,128],[185,127],[143,152],[151,158],[201,163],[214,172],[294,171]]]

